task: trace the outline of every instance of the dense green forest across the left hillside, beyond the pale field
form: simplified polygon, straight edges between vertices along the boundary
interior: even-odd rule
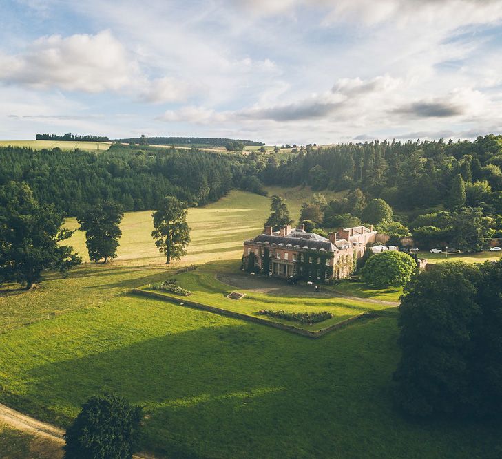
[[[198,206],[231,188],[265,193],[253,156],[234,153],[129,145],[112,145],[99,154],[4,147],[0,162],[0,184],[25,182],[36,200],[71,216],[100,199],[141,211],[154,209],[166,195]]]

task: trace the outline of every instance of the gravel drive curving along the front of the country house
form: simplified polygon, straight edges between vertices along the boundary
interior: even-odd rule
[[[384,301],[381,299],[371,299],[364,297],[351,297],[350,295],[345,295],[332,288],[326,288],[321,286],[320,292],[315,292],[312,286],[304,286],[302,284],[289,285],[282,279],[263,278],[263,277],[253,277],[249,274],[244,275],[241,273],[217,273],[216,279],[227,284],[233,288],[238,288],[242,290],[250,290],[251,292],[265,293],[267,295],[278,295],[278,296],[293,296],[301,295],[303,297],[315,297],[315,298],[347,298],[353,301],[362,301],[363,303],[377,303],[384,304],[386,306],[399,306],[397,301]]]

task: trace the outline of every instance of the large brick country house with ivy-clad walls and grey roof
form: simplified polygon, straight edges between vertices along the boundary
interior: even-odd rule
[[[284,226],[244,241],[243,267],[277,277],[299,277],[315,281],[332,281],[350,276],[356,261],[364,255],[366,244],[376,242],[373,226],[339,228],[337,233],[322,237],[299,228]]]

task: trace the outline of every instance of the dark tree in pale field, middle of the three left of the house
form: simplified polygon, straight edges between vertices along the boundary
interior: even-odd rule
[[[85,232],[85,245],[91,261],[104,259],[106,263],[117,256],[118,238],[122,235],[119,225],[123,215],[120,204],[100,201],[77,217],[79,229]]]

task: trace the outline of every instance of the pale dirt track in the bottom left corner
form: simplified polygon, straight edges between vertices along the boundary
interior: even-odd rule
[[[4,423],[14,427],[14,429],[32,434],[34,436],[41,436],[43,438],[48,438],[56,443],[59,443],[61,447],[65,444],[63,440],[63,435],[65,431],[55,427],[54,425],[43,423],[38,419],[26,416],[15,409],[9,408],[6,405],[0,403],[0,420]],[[155,459],[154,456],[148,456],[144,453],[134,454],[132,456],[134,459]]]

